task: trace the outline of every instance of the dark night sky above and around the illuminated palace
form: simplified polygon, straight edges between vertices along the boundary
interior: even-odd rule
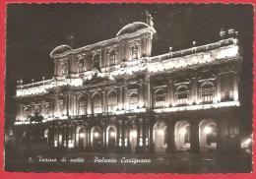
[[[153,55],[190,47],[220,39],[222,28],[239,31],[241,52],[244,56],[242,76],[246,81],[247,101],[251,107],[251,72],[253,41],[253,7],[251,5],[167,5],[167,4],[10,4],[7,9],[6,57],[6,117],[15,115],[12,96],[16,81],[38,81],[53,75],[53,62],[49,53],[60,44],[74,48],[114,37],[125,25],[145,22],[145,10],[154,17],[157,35],[154,37]]]

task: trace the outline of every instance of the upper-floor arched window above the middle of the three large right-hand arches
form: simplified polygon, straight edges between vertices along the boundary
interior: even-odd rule
[[[189,94],[189,90],[188,90],[187,86],[181,85],[181,86],[177,87],[176,92],[175,92],[176,105],[177,106],[187,105],[188,94]]]

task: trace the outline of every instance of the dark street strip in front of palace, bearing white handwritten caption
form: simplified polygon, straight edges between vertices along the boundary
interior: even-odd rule
[[[64,172],[168,172],[168,173],[247,173],[251,172],[251,155],[192,154],[116,154],[55,152],[50,155],[6,157],[8,171]]]

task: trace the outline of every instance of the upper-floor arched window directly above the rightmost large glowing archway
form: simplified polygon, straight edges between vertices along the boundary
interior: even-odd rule
[[[211,82],[205,82],[199,89],[199,96],[203,104],[213,103],[214,99],[214,84]]]

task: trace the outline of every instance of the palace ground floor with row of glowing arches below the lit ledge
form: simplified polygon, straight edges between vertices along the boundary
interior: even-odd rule
[[[239,150],[237,107],[171,113],[77,116],[17,125],[19,140],[85,152],[231,152]],[[19,141],[18,140],[18,141]]]

